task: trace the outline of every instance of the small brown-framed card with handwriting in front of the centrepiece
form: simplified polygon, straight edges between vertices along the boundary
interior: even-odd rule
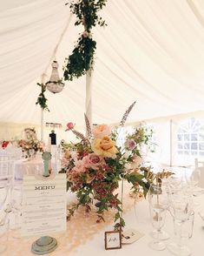
[[[121,249],[122,248],[122,233],[120,231],[105,232],[105,249]]]

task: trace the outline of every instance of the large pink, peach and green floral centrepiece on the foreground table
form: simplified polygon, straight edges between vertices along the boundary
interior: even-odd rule
[[[135,104],[135,103],[134,103]],[[132,104],[124,114],[121,126],[124,125]],[[89,125],[85,117],[88,138],[74,129],[73,123],[68,123],[67,131],[72,131],[81,141],[74,144],[63,142],[63,170],[67,173],[67,185],[71,192],[76,192],[78,202],[69,209],[69,218],[80,206],[86,212],[90,204],[97,201],[97,219],[103,219],[104,211],[115,209],[115,229],[125,225],[122,219],[122,200],[115,190],[121,180],[128,180],[134,190],[142,188],[146,196],[149,188],[147,179],[149,168],[141,166],[140,148],[148,144],[152,131],[147,133],[144,128],[136,128],[125,138],[123,147],[117,145],[118,130],[111,130],[109,125]]]

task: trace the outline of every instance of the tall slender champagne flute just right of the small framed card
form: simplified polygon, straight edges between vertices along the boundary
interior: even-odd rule
[[[164,250],[165,244],[161,242],[161,228],[164,226],[166,212],[168,208],[168,194],[162,189],[161,183],[151,185],[148,192],[149,212],[152,226],[156,229],[155,240],[150,243],[150,247],[154,250]]]

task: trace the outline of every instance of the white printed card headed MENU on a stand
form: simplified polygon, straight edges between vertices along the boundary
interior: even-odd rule
[[[25,175],[22,236],[65,231],[66,205],[66,174],[46,179]]]

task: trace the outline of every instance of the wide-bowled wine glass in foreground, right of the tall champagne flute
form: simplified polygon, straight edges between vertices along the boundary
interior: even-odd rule
[[[176,242],[168,244],[168,250],[175,255],[188,256],[191,252],[188,246],[182,244],[182,226],[192,212],[192,200],[186,189],[172,189],[169,192],[169,210],[174,218]]]

